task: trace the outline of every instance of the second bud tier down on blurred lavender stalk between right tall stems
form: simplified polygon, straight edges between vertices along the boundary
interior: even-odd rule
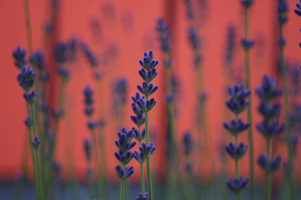
[[[269,104],[265,101],[261,101],[258,107],[258,111],[263,115],[266,120],[270,120],[279,116],[281,111],[281,104]]]

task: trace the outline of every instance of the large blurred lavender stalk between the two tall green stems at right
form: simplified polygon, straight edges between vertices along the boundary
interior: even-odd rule
[[[272,104],[272,100],[282,94],[281,88],[276,88],[276,79],[264,76],[262,85],[256,89],[256,93],[261,99],[258,111],[264,120],[257,124],[257,129],[267,139],[267,154],[260,154],[257,162],[266,173],[266,199],[272,199],[272,173],[278,170],[281,157],[272,158],[272,138],[284,131],[284,124],[279,124],[277,118],[281,111],[281,104]]]

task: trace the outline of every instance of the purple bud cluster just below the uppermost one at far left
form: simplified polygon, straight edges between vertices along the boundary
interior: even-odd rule
[[[33,68],[23,65],[17,79],[19,80],[19,85],[26,91],[29,91],[35,83],[35,77],[36,72],[33,71]]]

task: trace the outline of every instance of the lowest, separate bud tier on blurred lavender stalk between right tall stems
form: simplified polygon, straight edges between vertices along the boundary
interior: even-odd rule
[[[266,173],[273,173],[279,169],[281,164],[281,157],[275,156],[274,158],[269,160],[268,155],[262,153],[258,156],[257,163]]]

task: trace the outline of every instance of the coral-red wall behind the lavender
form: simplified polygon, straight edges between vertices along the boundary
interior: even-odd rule
[[[255,39],[256,45],[251,51],[251,89],[259,86],[263,74],[275,75],[276,59],[279,55],[277,46],[278,23],[275,0],[256,1],[250,11],[250,35]],[[300,48],[298,42],[301,41],[299,29],[301,19],[293,13],[295,2],[290,1],[289,21],[285,25],[284,35],[287,39],[285,55],[291,62],[301,63]],[[41,48],[42,44],[42,26],[48,18],[49,1],[29,0],[30,15],[33,29],[34,49]],[[243,36],[243,9],[238,0],[218,1],[208,0],[208,10],[206,11],[206,22],[201,28],[201,37],[203,41],[203,77],[206,91],[209,94],[209,127],[213,136],[211,144],[212,154],[215,158],[216,169],[221,168],[219,162],[219,148],[222,141],[224,130],[222,121],[224,120],[224,98],[225,98],[225,61],[224,50],[226,43],[227,27],[230,24],[237,29],[237,48],[235,66],[237,70],[243,70],[244,54],[240,47],[239,40]],[[112,16],[106,15],[105,9],[108,5],[113,8]],[[154,50],[155,59],[162,61],[160,45],[157,42],[155,33],[155,24],[158,17],[163,16],[172,26],[172,51],[173,51],[173,70],[180,79],[180,98],[178,99],[178,117],[176,120],[176,132],[178,134],[178,143],[181,143],[182,133],[189,129],[194,131],[196,137],[196,122],[194,114],[195,104],[195,71],[193,68],[193,57],[187,37],[187,20],[185,16],[186,8],[184,0],[172,1],[80,1],[64,0],[60,3],[57,18],[57,27],[51,35],[49,48],[47,50],[48,69],[51,73],[51,81],[48,85],[48,100],[51,105],[56,104],[57,99],[57,75],[54,73],[53,63],[53,44],[58,40],[67,40],[71,36],[76,36],[81,40],[87,41],[89,46],[95,49],[95,52],[101,52],[112,44],[117,45],[117,56],[114,62],[107,66],[102,66],[105,71],[104,87],[106,117],[108,120],[106,128],[107,137],[107,157],[109,159],[110,173],[114,173],[114,166],[118,163],[113,152],[117,150],[114,140],[117,138],[118,124],[114,123],[111,114],[111,83],[117,77],[126,77],[129,82],[128,103],[126,104],[126,113],[124,123],[129,129],[134,124],[130,120],[131,99],[137,91],[136,85],[141,84],[142,79],[138,75],[141,66],[138,60],[142,59],[143,52]],[[100,44],[94,44],[89,22],[93,17],[101,20],[103,38]],[[24,151],[24,137],[26,136],[26,127],[23,120],[26,117],[25,101],[22,97],[23,89],[16,81],[18,69],[13,65],[11,56],[12,50],[20,45],[27,47],[25,19],[22,1],[1,1],[0,2],[0,60],[1,72],[0,78],[0,113],[1,113],[1,132],[0,132],[0,179],[11,180],[20,172],[21,158],[26,154]],[[262,42],[259,42],[261,40]],[[163,62],[159,63],[158,77],[154,84],[159,86],[159,90],[154,94],[157,99],[157,105],[150,113],[150,126],[156,130],[151,135],[155,141],[157,151],[152,156],[152,166],[154,169],[164,168],[165,134],[166,134],[166,112],[165,112],[165,71]],[[83,151],[83,138],[90,137],[89,130],[86,127],[86,116],[83,112],[83,88],[87,83],[94,86],[92,71],[85,59],[79,58],[72,66],[71,79],[68,83],[66,110],[62,123],[60,124],[60,138],[58,146],[58,159],[62,162],[65,171],[68,167],[67,160],[75,157],[73,166],[78,172],[80,178],[85,177],[87,168]],[[96,88],[96,86],[95,86]],[[97,91],[96,91],[97,97]],[[256,113],[258,98],[252,95],[253,101],[253,120],[259,122],[260,116]],[[244,113],[245,115],[245,113]],[[72,119],[72,120],[70,120]],[[253,124],[254,126],[254,124]],[[72,127],[72,129],[70,129]],[[72,130],[72,131],[70,131]],[[255,128],[253,128],[255,130]],[[70,139],[70,134],[73,135]],[[265,151],[263,137],[257,131],[254,131],[254,144],[256,145],[255,158]],[[247,132],[240,136],[241,141],[247,142]],[[27,141],[27,140],[25,140]],[[67,149],[73,153],[68,154]],[[135,147],[138,149],[138,147]],[[182,148],[182,147],[181,147]],[[70,153],[70,152],[69,152]],[[286,155],[282,148],[275,150],[275,153]],[[275,154],[274,153],[274,154]],[[240,172],[243,175],[248,174],[248,153],[240,161]],[[131,162],[134,168],[138,168],[136,161]],[[210,166],[209,164],[207,165]],[[300,161],[297,162],[300,167]],[[232,171],[233,172],[233,171]],[[261,170],[256,168],[256,174],[260,175]],[[134,174],[138,178],[139,173]]]

